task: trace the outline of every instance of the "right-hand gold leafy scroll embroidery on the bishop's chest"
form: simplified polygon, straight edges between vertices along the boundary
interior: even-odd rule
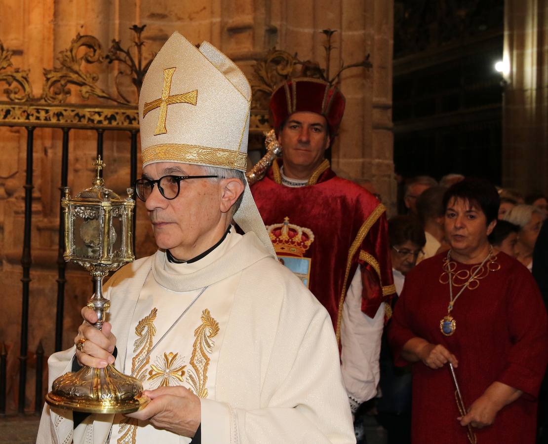
[[[194,331],[195,340],[192,344],[192,356],[187,372],[187,382],[190,390],[198,397],[207,397],[207,372],[211,359],[208,355],[213,353],[212,339],[219,333],[219,322],[212,318],[209,310],[206,308],[202,312],[202,325]]]

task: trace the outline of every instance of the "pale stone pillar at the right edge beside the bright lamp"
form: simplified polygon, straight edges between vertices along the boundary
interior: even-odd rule
[[[548,193],[548,3],[506,0],[503,186]]]

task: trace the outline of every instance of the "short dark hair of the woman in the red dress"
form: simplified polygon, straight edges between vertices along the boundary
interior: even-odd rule
[[[455,183],[443,195],[443,208],[452,199],[467,200],[470,205],[478,206],[485,217],[487,224],[496,220],[499,213],[500,197],[494,185],[486,179],[466,177],[463,181]]]

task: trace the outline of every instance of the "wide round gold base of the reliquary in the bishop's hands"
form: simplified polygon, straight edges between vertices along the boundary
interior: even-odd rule
[[[45,401],[53,407],[87,413],[131,413],[141,410],[150,399],[143,395],[138,379],[109,365],[84,366],[55,379]]]

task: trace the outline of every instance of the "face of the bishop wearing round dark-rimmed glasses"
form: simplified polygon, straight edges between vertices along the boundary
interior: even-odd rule
[[[176,162],[153,163],[143,169],[143,177],[151,180],[167,175],[201,176],[204,172],[199,165]],[[207,250],[208,235],[221,217],[219,202],[219,183],[209,178],[181,181],[179,195],[172,200],[164,198],[155,186],[145,206],[158,247],[183,260],[192,257],[186,257],[188,252]]]

